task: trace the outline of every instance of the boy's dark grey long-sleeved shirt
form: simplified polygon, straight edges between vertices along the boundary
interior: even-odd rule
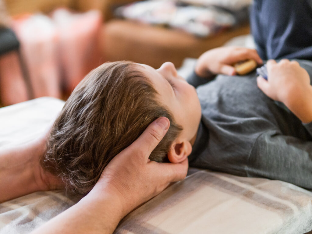
[[[312,62],[297,61],[312,80]],[[197,87],[202,108],[190,166],[312,189],[312,123],[302,124],[267,97],[256,72],[213,80],[193,73],[187,80]]]

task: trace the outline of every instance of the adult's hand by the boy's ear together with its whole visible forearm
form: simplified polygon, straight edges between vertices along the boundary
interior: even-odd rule
[[[169,125],[165,117],[152,122],[110,161],[90,193],[34,233],[112,233],[135,207],[162,192],[169,183],[183,180],[188,171],[187,158],[181,163],[149,160]]]

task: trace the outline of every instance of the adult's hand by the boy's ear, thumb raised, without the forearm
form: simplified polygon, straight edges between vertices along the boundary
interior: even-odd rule
[[[111,193],[122,204],[122,216],[162,192],[170,182],[183,180],[188,159],[181,163],[157,163],[149,155],[168,131],[170,122],[160,117],[128,148],[105,167],[90,195]]]

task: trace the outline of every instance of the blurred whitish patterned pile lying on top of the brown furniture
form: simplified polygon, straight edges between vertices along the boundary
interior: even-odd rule
[[[237,23],[235,14],[222,7],[181,5],[181,1],[174,0],[134,2],[118,7],[115,15],[143,23],[182,29],[199,37],[216,34]]]

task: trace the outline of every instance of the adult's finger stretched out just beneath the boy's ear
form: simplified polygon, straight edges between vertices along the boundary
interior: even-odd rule
[[[188,158],[181,163],[156,163],[151,161],[151,170],[157,171],[161,181],[176,182],[183,180],[188,173]]]

